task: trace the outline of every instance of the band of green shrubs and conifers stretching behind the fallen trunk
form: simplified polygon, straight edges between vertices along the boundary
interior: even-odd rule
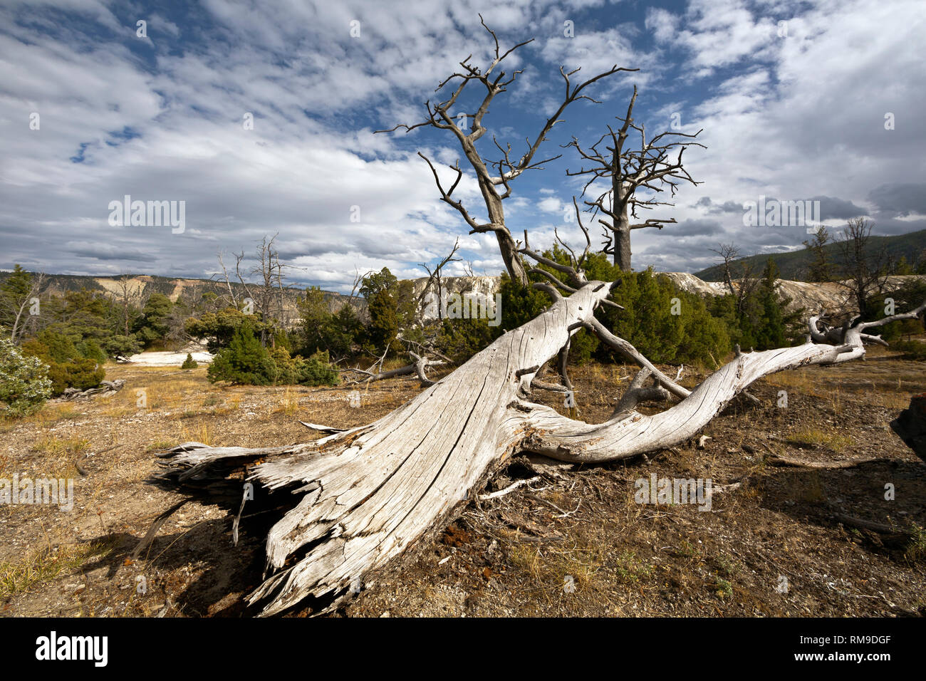
[[[857,239],[867,238],[866,229],[868,225],[857,226]],[[854,276],[859,282],[880,283],[888,273],[926,271],[926,258],[914,265],[903,260],[880,265],[863,259],[832,262],[829,241],[828,233],[821,230],[805,244],[811,254],[813,278]],[[264,246],[269,247],[266,240]],[[730,250],[735,251],[732,246]],[[569,263],[568,254],[559,246],[544,251],[544,256]],[[273,258],[275,251],[269,260],[265,253],[265,261],[272,263]],[[620,280],[611,298],[624,311],[602,307],[595,315],[656,362],[712,369],[736,345],[744,350],[764,350],[801,342],[806,334],[807,310],[786,311],[790,301],[778,288],[779,272],[772,259],[759,275],[748,271],[744,261],[728,259],[730,293],[713,297],[682,291],[668,277],[652,270],[620,271],[600,253],[590,255],[582,266],[590,280]],[[739,271],[735,271],[736,266]],[[552,268],[538,267],[563,277]],[[531,279],[547,281],[536,273]],[[295,303],[299,320],[293,323],[284,313],[281,275],[264,277],[263,286],[244,286],[248,296],[255,296],[257,301],[235,294],[227,282],[211,291],[185,292],[176,302],[156,291],[147,296],[141,292],[132,295],[129,277],[118,282],[122,284],[120,294],[80,290],[54,296],[42,289],[41,276],[35,277],[19,266],[6,275],[0,284],[0,328],[21,358],[9,361],[13,362],[10,366],[19,367],[22,381],[28,378],[38,382],[36,385],[47,382],[49,396],[60,395],[69,387],[85,390],[103,380],[107,359],[125,360],[145,349],[179,349],[190,340],[199,340],[216,355],[207,372],[211,381],[335,385],[339,368],[369,366],[383,355],[407,357],[409,349],[427,348],[445,358],[465,361],[507,330],[532,320],[551,302],[544,291],[522,287],[503,274],[498,289],[502,314],[497,325],[486,319],[422,322],[421,301],[413,294],[412,282],[399,282],[383,268],[369,272],[357,283],[362,300],[353,298],[340,306],[333,305],[332,296],[321,289],[307,288]],[[857,292],[852,295],[857,297]],[[891,294],[870,295],[863,307],[866,315],[880,317],[890,313],[892,300],[894,309],[900,311],[917,307],[924,298],[926,283],[916,282]],[[32,313],[36,301],[41,310]],[[912,336],[922,334],[922,322],[894,322],[881,331],[882,337],[907,357],[923,359],[926,355],[922,343],[911,341]],[[9,348],[5,352],[9,355]],[[622,361],[594,334],[585,330],[574,334],[569,361],[582,364],[592,359]],[[192,356],[182,365],[184,369],[195,366]],[[19,393],[32,395],[17,383],[19,380],[10,379],[10,385],[19,387],[5,388],[11,399]],[[44,388],[36,391],[35,396],[45,392]],[[16,410],[40,403],[29,401],[31,397],[15,398],[18,405],[27,405]],[[7,407],[7,411],[14,409]]]

